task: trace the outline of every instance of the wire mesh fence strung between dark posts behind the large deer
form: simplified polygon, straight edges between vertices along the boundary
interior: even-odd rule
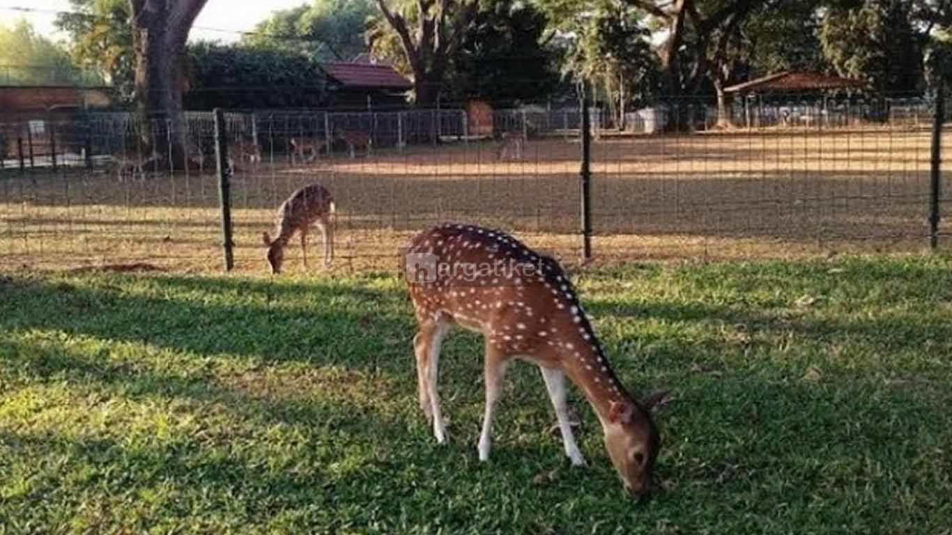
[[[594,258],[928,248],[933,109],[927,99],[589,109]],[[291,192],[315,182],[337,207],[336,268],[394,268],[407,237],[443,221],[505,228],[577,259],[582,115],[225,113],[236,268],[266,270],[263,231]],[[208,112],[0,118],[0,267],[220,269],[215,144]],[[942,222],[943,248],[949,229]],[[301,264],[289,247],[287,268]]]

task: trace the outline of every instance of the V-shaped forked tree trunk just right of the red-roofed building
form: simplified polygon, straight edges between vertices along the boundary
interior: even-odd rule
[[[377,0],[387,25],[400,38],[413,75],[418,106],[433,105],[449,60],[479,9],[478,0]]]

